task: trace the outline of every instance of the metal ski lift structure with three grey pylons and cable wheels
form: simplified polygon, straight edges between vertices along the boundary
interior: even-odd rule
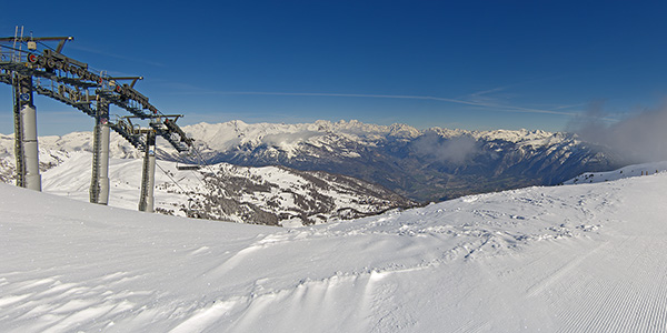
[[[109,77],[92,71],[88,63],[62,54],[72,37],[23,37],[19,28],[13,38],[0,38],[0,82],[12,85],[14,100],[14,135],[17,184],[41,190],[37,148],[36,107],[33,93],[70,105],[94,118],[92,176],[90,202],[107,204],[109,199],[109,130],[113,130],[132,147],[145,153],[139,209],[152,212],[155,184],[156,137],[162,137],[178,152],[192,148],[193,141],[176,123],[182,114],[162,114],[149,103],[148,97],[135,89],[143,77]],[[58,41],[56,49],[36,41]],[[26,47],[26,48],[23,48]],[[119,81],[130,80],[130,83]],[[113,104],[131,115],[109,119]],[[131,119],[148,120],[147,128],[136,127]]]

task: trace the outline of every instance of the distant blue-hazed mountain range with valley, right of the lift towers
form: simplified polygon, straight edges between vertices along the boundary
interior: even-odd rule
[[[535,184],[627,164],[576,135],[545,131],[419,131],[358,121],[185,127],[209,162],[322,170],[378,183],[418,201]],[[165,150],[165,159],[186,161]],[[195,161],[195,158],[190,158]]]

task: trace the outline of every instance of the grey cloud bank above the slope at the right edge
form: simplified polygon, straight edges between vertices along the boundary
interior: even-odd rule
[[[569,130],[581,140],[605,145],[631,162],[667,160],[667,104],[611,122],[601,103],[594,103]]]

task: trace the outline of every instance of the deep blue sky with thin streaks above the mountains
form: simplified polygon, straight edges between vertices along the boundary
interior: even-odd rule
[[[9,1],[0,34],[73,36],[64,54],[143,75],[182,124],[559,131],[593,104],[620,120],[664,102],[665,17],[661,1]],[[36,101],[40,135],[91,130]],[[11,105],[0,87],[1,133]]]

